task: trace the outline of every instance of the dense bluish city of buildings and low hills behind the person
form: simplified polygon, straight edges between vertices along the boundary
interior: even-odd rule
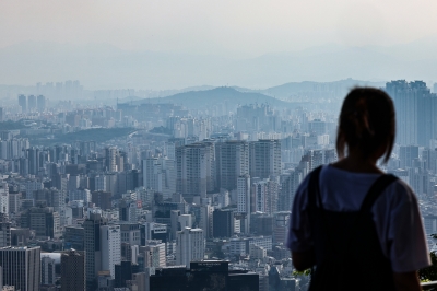
[[[307,290],[284,246],[294,194],[336,161],[340,103],[366,84],[378,85],[2,88],[2,290]],[[380,166],[416,193],[433,251],[437,95],[422,81],[379,86],[398,124]]]

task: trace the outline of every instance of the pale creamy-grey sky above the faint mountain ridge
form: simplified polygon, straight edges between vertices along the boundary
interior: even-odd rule
[[[437,35],[434,0],[0,1],[0,47],[25,40],[257,56]],[[244,56],[243,55],[243,56]]]

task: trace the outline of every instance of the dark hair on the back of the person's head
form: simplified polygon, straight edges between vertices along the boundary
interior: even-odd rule
[[[343,102],[339,118],[336,152],[344,156],[344,149],[358,147],[368,158],[387,144],[383,162],[387,163],[394,144],[395,119],[393,101],[375,88],[355,88]]]

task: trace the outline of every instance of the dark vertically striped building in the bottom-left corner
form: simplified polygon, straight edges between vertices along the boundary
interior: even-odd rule
[[[15,290],[38,291],[40,282],[40,248],[1,247],[0,266],[3,284],[14,286]]]

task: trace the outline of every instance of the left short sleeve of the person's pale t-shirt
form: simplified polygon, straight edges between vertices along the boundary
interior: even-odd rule
[[[308,217],[309,176],[300,183],[294,196],[292,214],[290,216],[288,235],[285,245],[292,252],[305,252],[312,246]]]

